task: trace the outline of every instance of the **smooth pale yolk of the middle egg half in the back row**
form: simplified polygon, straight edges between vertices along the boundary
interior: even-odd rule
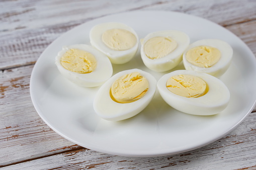
[[[154,37],[144,45],[144,52],[150,59],[162,58],[177,47],[177,42],[170,37]]]

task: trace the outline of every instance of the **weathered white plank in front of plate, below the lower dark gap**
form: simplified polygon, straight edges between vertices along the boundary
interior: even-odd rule
[[[185,153],[123,157],[79,149],[7,166],[11,169],[255,169],[256,113],[225,137]],[[3,168],[5,169],[5,168]]]

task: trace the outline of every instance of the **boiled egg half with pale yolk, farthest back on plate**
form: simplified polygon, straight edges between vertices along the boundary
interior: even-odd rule
[[[92,46],[107,55],[113,64],[130,61],[138,50],[138,36],[122,23],[103,23],[90,31]]]

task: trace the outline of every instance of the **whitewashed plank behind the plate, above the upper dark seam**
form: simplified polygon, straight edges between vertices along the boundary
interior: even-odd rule
[[[0,3],[0,70],[33,64],[59,35],[84,22],[125,11],[177,11],[233,25],[255,19],[253,1],[5,1]],[[64,8],[68,6],[69,8]],[[84,8],[86,7],[86,10]],[[98,10],[101,9],[101,10]],[[251,29],[251,28],[250,28]],[[1,31],[2,30],[2,31]]]

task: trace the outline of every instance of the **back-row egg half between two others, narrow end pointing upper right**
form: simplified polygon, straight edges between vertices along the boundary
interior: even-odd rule
[[[189,43],[189,36],[181,31],[168,30],[150,33],[141,40],[142,61],[153,71],[168,71],[182,61],[183,52]]]

